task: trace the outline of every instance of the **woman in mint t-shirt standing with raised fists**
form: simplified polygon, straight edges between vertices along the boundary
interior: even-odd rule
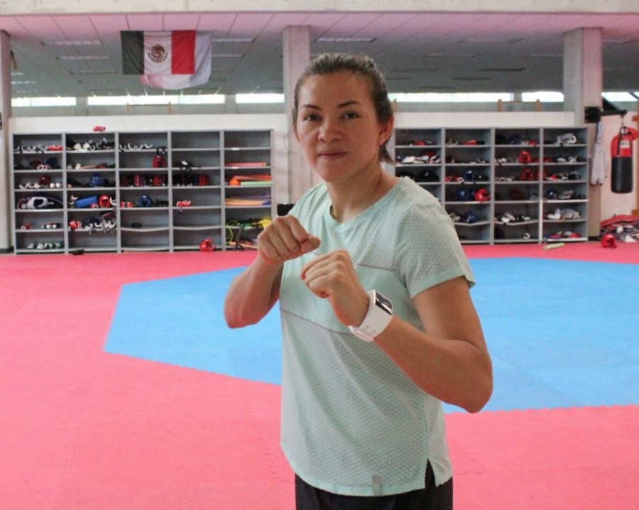
[[[224,314],[242,327],[280,300],[297,508],[451,509],[442,401],[476,412],[492,391],[471,268],[435,197],[381,166],[394,118],[372,60],[322,55],[294,99],[324,182],[260,234]]]

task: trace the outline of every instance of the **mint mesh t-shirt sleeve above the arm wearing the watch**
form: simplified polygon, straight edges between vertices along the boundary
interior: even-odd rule
[[[450,217],[441,205],[413,205],[395,232],[395,267],[410,298],[457,276],[474,276]]]

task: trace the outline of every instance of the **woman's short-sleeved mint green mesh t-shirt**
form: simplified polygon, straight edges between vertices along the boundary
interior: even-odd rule
[[[391,298],[393,313],[421,329],[412,298],[457,276],[473,284],[469,263],[442,206],[410,179],[348,222],[330,205],[321,184],[290,212],[322,245],[286,262],[282,276],[283,452],[305,482],[335,494],[421,489],[427,460],[442,484],[452,476],[442,403],[374,342],[352,335],[300,273],[315,256],[346,249],[364,288]]]

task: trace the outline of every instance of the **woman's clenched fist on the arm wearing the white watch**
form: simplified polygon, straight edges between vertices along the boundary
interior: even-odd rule
[[[346,250],[330,251],[302,268],[302,280],[322,299],[327,299],[339,322],[359,326],[368,310],[368,294]]]

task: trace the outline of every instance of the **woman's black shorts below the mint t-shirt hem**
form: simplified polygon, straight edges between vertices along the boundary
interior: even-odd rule
[[[452,510],[452,478],[435,487],[430,462],[424,489],[391,496],[343,496],[316,489],[295,475],[297,510]]]

